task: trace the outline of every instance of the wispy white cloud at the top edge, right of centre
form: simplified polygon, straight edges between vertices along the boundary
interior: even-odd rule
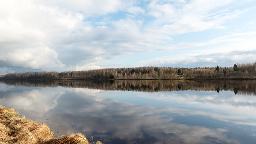
[[[153,1],[148,6],[148,14],[156,17],[148,29],[165,35],[177,35],[188,32],[198,32],[208,29],[225,28],[222,24],[246,10],[231,10],[227,7],[218,10],[236,0],[191,0],[189,2],[161,3]]]

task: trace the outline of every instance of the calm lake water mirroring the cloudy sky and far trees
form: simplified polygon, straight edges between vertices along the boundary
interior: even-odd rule
[[[6,81],[0,105],[104,144],[256,143],[256,81]]]

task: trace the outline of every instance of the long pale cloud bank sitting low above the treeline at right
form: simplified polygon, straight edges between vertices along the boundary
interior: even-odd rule
[[[135,66],[230,67],[256,61],[256,32],[233,33],[198,43],[179,43],[154,50],[156,55],[136,61]],[[176,53],[173,53],[173,51]],[[178,52],[177,52],[178,51]],[[187,52],[186,52],[187,51]]]

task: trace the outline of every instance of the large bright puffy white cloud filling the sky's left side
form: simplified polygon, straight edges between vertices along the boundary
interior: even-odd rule
[[[81,14],[30,0],[2,1],[0,5],[0,13],[5,13],[0,19],[1,60],[13,67],[65,70],[56,51],[49,47],[72,33],[83,19]]]

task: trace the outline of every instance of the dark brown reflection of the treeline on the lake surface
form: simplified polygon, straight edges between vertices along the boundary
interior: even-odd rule
[[[178,80],[53,80],[53,81],[14,81],[1,80],[13,86],[73,87],[121,91],[233,91],[235,94],[256,95],[256,81],[178,81]]]

